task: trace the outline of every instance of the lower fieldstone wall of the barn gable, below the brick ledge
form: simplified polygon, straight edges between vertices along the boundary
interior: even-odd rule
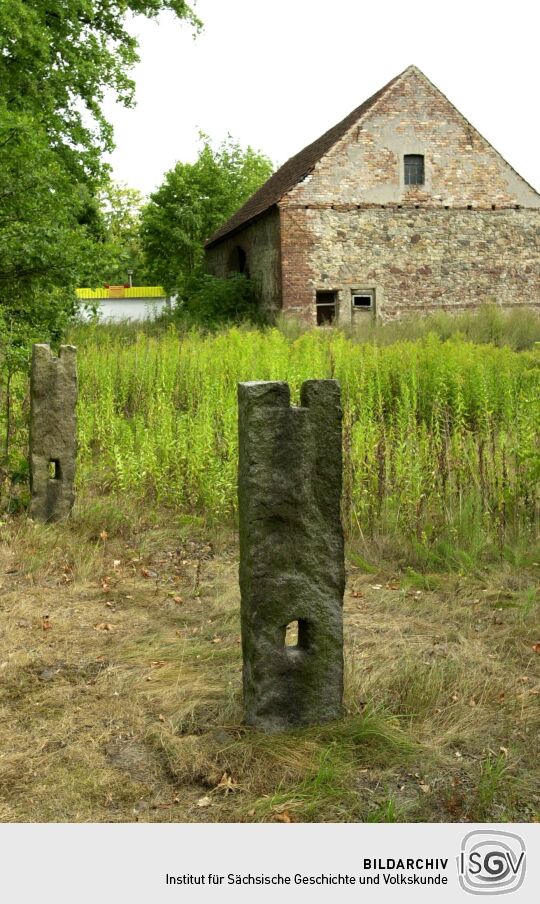
[[[375,290],[383,319],[495,302],[540,306],[540,211],[286,210],[284,309],[315,322],[315,292]]]

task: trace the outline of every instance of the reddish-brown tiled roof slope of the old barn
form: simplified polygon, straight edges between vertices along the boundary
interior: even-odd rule
[[[409,66],[408,69],[405,69],[405,72],[414,68],[415,67],[413,66]],[[356,107],[355,110],[349,113],[345,119],[342,119],[341,122],[332,126],[332,128],[328,129],[324,135],[321,135],[316,141],[308,144],[302,151],[299,151],[298,154],[295,154],[294,157],[287,160],[287,162],[270,176],[264,185],[251,196],[251,198],[248,198],[246,203],[237,210],[236,213],[233,213],[232,217],[230,217],[223,226],[220,226],[220,228],[214,232],[206,242],[206,247],[209,248],[211,245],[215,245],[231,232],[235,232],[241,226],[244,226],[250,220],[255,219],[255,217],[260,216],[270,207],[273,207],[274,204],[277,204],[283,195],[290,191],[291,188],[294,188],[295,185],[298,185],[298,183],[311,172],[321,157],[324,157],[324,155],[328,153],[330,148],[346,134],[360,117],[364,116],[368,110],[371,109],[376,101],[378,101],[402,75],[404,75],[404,72],[396,75],[395,78],[391,79],[383,88],[371,97],[368,97],[363,104],[360,104],[359,107]]]

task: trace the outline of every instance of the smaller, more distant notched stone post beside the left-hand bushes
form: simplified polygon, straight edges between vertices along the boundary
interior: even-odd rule
[[[30,374],[30,517],[67,518],[75,500],[77,351],[34,345]]]

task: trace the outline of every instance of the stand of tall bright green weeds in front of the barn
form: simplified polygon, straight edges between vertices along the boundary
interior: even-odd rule
[[[84,337],[83,337],[84,338]],[[100,333],[79,356],[79,481],[236,517],[237,383],[340,380],[349,539],[502,549],[538,525],[538,353],[433,333],[388,346],[319,330]],[[442,544],[442,545],[441,545]]]

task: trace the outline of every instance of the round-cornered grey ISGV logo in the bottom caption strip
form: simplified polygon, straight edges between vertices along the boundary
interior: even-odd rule
[[[519,835],[484,829],[469,832],[457,858],[459,884],[471,895],[504,895],[522,885],[525,843]]]

